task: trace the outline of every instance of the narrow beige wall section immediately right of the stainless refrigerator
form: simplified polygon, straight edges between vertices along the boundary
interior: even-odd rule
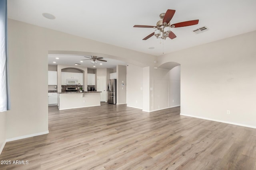
[[[124,84],[124,86],[122,86]],[[116,66],[116,104],[126,104],[126,66]]]

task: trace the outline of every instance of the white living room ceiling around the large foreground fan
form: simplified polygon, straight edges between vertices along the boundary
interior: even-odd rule
[[[8,0],[8,18],[159,56],[254,31],[255,8],[256,0]],[[142,40],[154,29],[133,25],[156,25],[167,9],[176,10],[171,23],[196,19],[199,23],[172,28],[175,39]],[[42,13],[56,19],[46,19]],[[209,30],[192,31],[202,26]]]

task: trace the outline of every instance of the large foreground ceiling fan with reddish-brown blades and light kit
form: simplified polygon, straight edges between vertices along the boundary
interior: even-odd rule
[[[176,38],[176,35],[171,31],[171,28],[186,27],[186,26],[198,24],[199,20],[191,20],[191,21],[184,21],[184,22],[170,24],[170,20],[172,20],[174,13],[175,13],[175,10],[167,10],[166,13],[160,14],[161,20],[156,23],[156,26],[134,25],[133,27],[156,28],[156,30],[153,33],[146,36],[142,40],[147,40],[153,35],[155,35],[156,38],[161,38],[161,39],[166,39],[166,37],[169,37],[170,39],[174,39]]]

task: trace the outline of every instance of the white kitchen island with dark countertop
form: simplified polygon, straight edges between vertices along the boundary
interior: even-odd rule
[[[100,92],[61,92],[58,93],[59,110],[100,106]]]

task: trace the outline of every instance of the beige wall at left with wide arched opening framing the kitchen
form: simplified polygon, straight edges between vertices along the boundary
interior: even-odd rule
[[[140,66],[156,60],[152,55],[10,19],[8,54],[12,104],[6,112],[8,141],[48,133],[48,54],[100,55]]]

